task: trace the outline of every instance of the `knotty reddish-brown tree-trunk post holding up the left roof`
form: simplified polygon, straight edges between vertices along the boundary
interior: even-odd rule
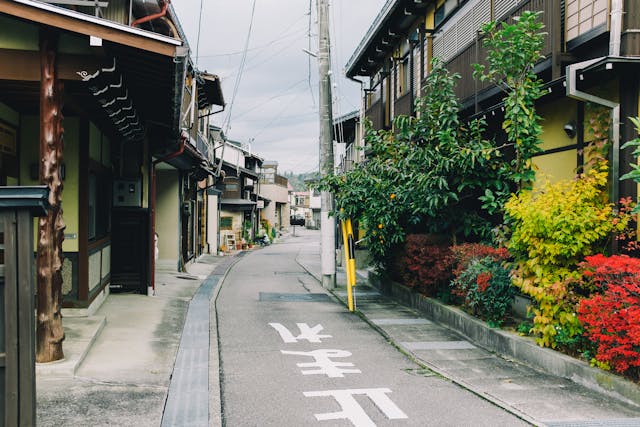
[[[57,75],[58,33],[40,32],[40,181],[49,187],[51,208],[38,221],[38,307],[36,361],[64,357],[62,341],[62,82]]]

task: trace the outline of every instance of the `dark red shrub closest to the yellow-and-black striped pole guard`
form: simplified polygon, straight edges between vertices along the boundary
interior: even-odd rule
[[[452,265],[449,245],[427,234],[409,234],[395,268],[406,286],[435,295],[438,287],[451,279]]]

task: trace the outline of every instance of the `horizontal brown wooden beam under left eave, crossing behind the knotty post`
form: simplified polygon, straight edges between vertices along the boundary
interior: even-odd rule
[[[78,71],[94,72],[101,65],[100,58],[89,55],[60,54],[60,80],[82,80]],[[38,51],[0,49],[0,80],[40,81],[40,53]]]

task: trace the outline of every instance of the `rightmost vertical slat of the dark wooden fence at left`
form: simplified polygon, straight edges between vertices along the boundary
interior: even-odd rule
[[[36,424],[35,324],[33,318],[33,218],[26,210],[17,212],[17,318],[20,426]]]

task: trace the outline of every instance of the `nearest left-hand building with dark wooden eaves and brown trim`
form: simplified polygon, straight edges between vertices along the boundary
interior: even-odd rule
[[[174,269],[203,250],[198,186],[215,171],[199,118],[224,99],[168,2],[64,3],[0,2],[0,185],[41,182],[54,117],[63,304],[90,313],[110,285],[153,289],[154,234]]]

